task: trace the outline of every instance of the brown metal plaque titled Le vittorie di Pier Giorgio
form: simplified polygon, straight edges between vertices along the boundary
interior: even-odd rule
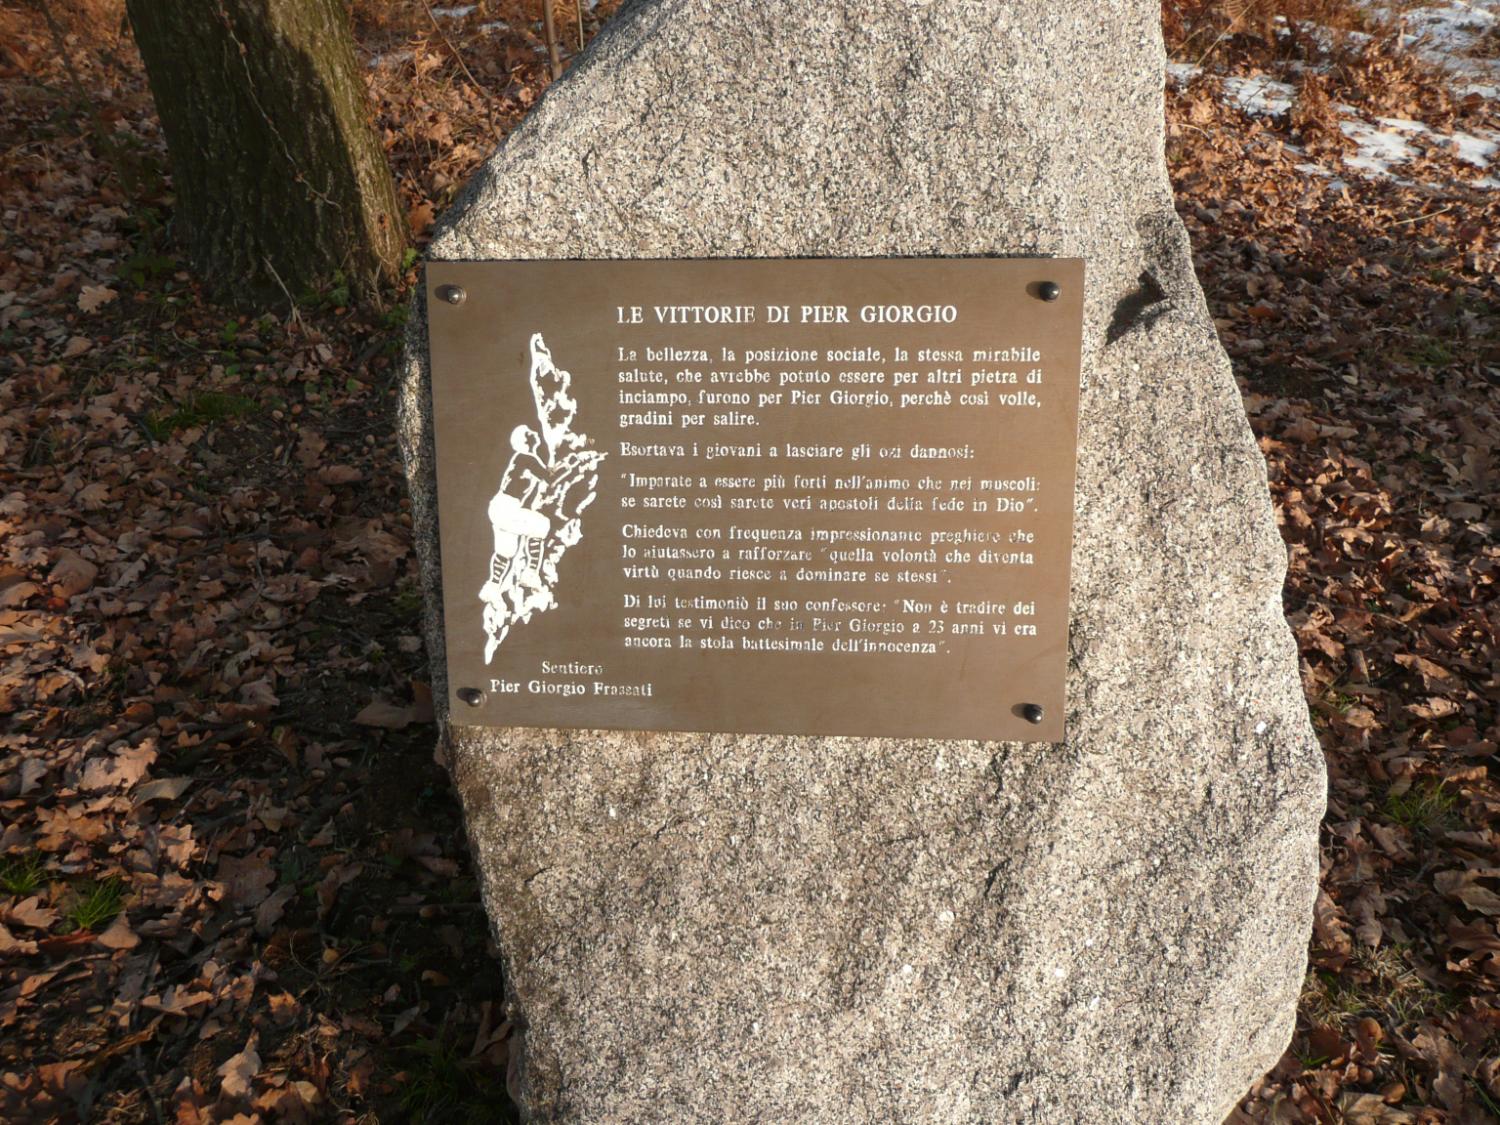
[[[1082,261],[426,284],[454,723],[1062,738]]]

